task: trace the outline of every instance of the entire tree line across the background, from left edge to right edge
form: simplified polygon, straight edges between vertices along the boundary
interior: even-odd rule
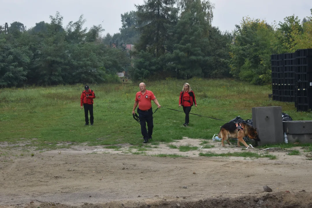
[[[28,30],[20,22],[9,32],[0,26],[0,87],[112,82],[124,70],[133,80],[235,77],[265,84],[271,54],[312,48],[312,17],[275,25],[244,17],[230,33],[212,26],[209,0],[145,0],[136,7],[121,14],[118,33],[104,37],[101,25],[84,28],[83,16],[63,27],[58,12]]]

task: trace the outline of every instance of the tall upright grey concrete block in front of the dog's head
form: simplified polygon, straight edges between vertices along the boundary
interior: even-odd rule
[[[252,108],[252,124],[257,128],[259,145],[284,143],[282,107]]]

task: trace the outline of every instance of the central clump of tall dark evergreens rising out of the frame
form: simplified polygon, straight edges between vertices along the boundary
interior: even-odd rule
[[[230,76],[232,35],[212,27],[209,0],[153,0],[137,5],[138,31],[134,79]]]

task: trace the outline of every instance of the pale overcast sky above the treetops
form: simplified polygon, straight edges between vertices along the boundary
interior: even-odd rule
[[[221,31],[232,31],[242,17],[265,19],[269,24],[274,20],[283,21],[295,14],[301,20],[311,16],[312,0],[211,0],[215,4],[213,26]],[[0,0],[0,24],[22,22],[27,29],[36,22],[50,22],[49,16],[59,11],[64,17],[63,26],[77,21],[81,14],[87,20],[85,27],[101,24],[109,32],[119,32],[120,14],[135,10],[134,4],[143,0]]]

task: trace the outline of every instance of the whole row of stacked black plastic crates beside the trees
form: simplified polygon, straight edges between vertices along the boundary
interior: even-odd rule
[[[297,111],[312,109],[312,49],[273,54],[272,99],[295,102]]]

